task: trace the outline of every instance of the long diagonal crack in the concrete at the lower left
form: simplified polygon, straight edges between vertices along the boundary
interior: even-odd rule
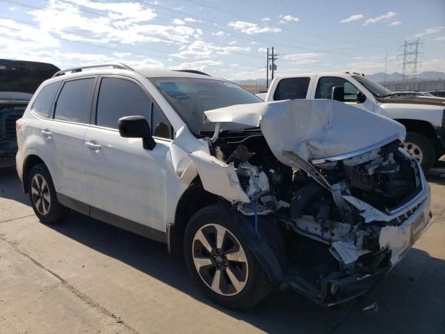
[[[129,326],[129,324],[127,324],[125,321],[123,321],[120,317],[115,316],[112,312],[108,311],[102,305],[100,305],[99,303],[97,303],[97,302],[93,301],[92,299],[90,299],[90,297],[88,297],[86,294],[83,294],[79,289],[76,289],[74,286],[70,285],[70,283],[68,283],[67,280],[65,280],[64,278],[59,276],[57,273],[55,273],[54,271],[51,271],[51,269],[48,269],[47,267],[44,267],[44,265],[41,264],[40,262],[38,262],[38,260],[35,260],[33,257],[31,257],[30,255],[24,253],[22,250],[19,250],[19,248],[18,248],[19,243],[18,242],[16,242],[16,241],[9,241],[8,239],[5,239],[4,237],[0,237],[0,240],[5,241],[7,244],[10,244],[11,246],[13,246],[14,250],[17,253],[19,253],[20,255],[22,255],[24,257],[26,257],[31,262],[33,262],[33,264],[35,264],[37,267],[39,267],[40,269],[43,269],[44,271],[47,271],[52,276],[54,276],[55,278],[60,280],[60,283],[63,285],[63,287],[66,287],[68,290],[70,290],[70,292],[72,292],[76,297],[81,299],[81,301],[86,303],[88,306],[90,306],[91,308],[95,308],[96,310],[99,310],[99,312],[102,312],[102,314],[107,315],[108,317],[113,318],[117,323],[122,324],[122,326],[124,326],[129,331],[133,332],[134,334],[140,334],[138,331],[136,331],[136,329],[134,329],[133,327]]]

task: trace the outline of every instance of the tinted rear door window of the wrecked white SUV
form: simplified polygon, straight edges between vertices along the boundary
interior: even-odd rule
[[[54,118],[89,123],[90,95],[94,78],[66,81],[58,95]]]

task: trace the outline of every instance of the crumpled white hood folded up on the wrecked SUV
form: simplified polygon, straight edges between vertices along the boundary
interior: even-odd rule
[[[283,164],[295,166],[285,151],[306,161],[342,159],[405,139],[400,123],[335,100],[286,100],[237,104],[204,112],[210,122],[261,127],[270,149]]]

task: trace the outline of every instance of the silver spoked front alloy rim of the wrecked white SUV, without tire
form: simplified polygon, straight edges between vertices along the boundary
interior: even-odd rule
[[[217,294],[233,296],[248,281],[248,259],[241,243],[216,223],[202,226],[193,237],[193,262],[202,281]]]

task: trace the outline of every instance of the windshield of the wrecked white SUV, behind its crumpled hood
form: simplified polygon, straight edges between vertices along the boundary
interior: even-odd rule
[[[215,125],[203,124],[204,111],[234,104],[263,102],[229,81],[196,78],[149,78],[165,100],[196,134],[213,132]],[[242,129],[243,125],[222,123],[222,130]]]

